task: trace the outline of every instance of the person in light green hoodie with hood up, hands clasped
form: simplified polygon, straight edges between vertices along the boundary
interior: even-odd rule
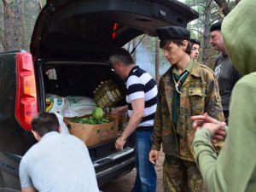
[[[229,128],[218,157],[210,140],[213,136],[222,137],[224,123],[207,114],[191,118],[197,129],[193,143],[195,162],[209,192],[256,191],[255,9],[256,1],[242,0],[222,24],[230,60],[245,76],[232,90]]]

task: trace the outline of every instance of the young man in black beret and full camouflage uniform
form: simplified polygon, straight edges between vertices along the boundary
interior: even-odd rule
[[[162,144],[164,191],[205,191],[192,151],[195,130],[190,116],[209,113],[215,119],[224,119],[218,80],[211,69],[191,59],[187,29],[166,26],[156,32],[172,66],[159,83],[149,160],[158,160]]]

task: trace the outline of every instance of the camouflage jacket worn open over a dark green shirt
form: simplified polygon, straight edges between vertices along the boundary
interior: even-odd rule
[[[215,119],[224,120],[218,79],[210,68],[194,63],[191,73],[181,88],[177,130],[172,124],[174,89],[172,67],[170,67],[160,78],[152,149],[160,150],[162,143],[165,154],[195,161],[192,149],[195,130],[192,128],[190,116],[207,112]],[[179,134],[179,145],[177,134]]]

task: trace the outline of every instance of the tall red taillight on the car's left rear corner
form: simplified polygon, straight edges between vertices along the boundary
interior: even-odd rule
[[[32,55],[28,52],[16,55],[17,90],[15,117],[21,127],[27,131],[32,129],[31,121],[38,113],[38,97]]]

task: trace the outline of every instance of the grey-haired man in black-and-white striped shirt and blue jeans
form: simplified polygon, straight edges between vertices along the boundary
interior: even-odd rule
[[[157,86],[149,73],[134,64],[131,54],[126,49],[118,49],[109,60],[113,70],[120,79],[125,81],[127,88],[127,105],[115,108],[113,116],[128,111],[130,117],[125,130],[116,140],[117,150],[123,150],[126,138],[133,132],[136,135],[136,168],[137,177],[132,191],[155,192],[156,173],[154,164],[148,160],[148,153],[152,146],[152,131],[154,113],[157,103]]]

